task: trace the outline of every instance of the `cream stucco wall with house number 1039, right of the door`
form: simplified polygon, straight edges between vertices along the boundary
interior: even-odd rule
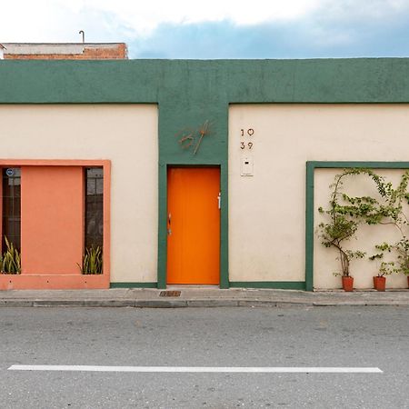
[[[254,135],[241,137],[249,128]],[[407,135],[409,105],[231,105],[230,280],[304,281],[305,162],[405,161]],[[240,149],[250,140],[251,150]],[[253,159],[253,176],[240,175],[244,155]],[[315,207],[334,175],[317,177],[323,196]],[[314,250],[315,286],[337,287],[333,257],[317,239]],[[360,275],[357,286],[372,286],[372,275]],[[404,277],[393,280],[404,285]]]

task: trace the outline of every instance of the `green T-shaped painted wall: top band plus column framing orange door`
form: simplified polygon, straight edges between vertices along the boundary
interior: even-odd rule
[[[0,104],[159,106],[158,286],[165,287],[166,167],[220,165],[221,287],[228,281],[228,106],[240,103],[406,103],[409,59],[0,61]],[[212,122],[197,155],[177,143]],[[306,277],[306,287],[312,281]]]

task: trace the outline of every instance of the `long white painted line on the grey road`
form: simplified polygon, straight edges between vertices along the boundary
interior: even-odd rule
[[[12,365],[10,371],[83,371],[139,373],[235,373],[235,374],[383,374],[371,367],[274,367],[274,366],[99,366],[99,365]]]

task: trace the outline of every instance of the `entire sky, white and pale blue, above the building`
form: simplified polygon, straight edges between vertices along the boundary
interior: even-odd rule
[[[84,30],[131,57],[409,54],[409,0],[4,0],[0,15],[0,43],[77,43]]]

